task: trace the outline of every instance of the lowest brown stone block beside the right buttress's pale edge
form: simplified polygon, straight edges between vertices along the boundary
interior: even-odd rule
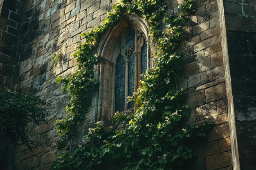
[[[206,158],[206,170],[216,170],[219,168],[232,166],[231,156],[231,151],[208,156]]]

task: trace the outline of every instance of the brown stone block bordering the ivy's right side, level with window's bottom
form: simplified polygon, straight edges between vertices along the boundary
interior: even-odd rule
[[[191,107],[204,104],[204,91],[197,91],[187,95],[185,103]]]

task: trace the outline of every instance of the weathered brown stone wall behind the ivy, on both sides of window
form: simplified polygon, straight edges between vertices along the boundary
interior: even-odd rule
[[[171,13],[177,12],[179,3],[181,1],[168,1]],[[0,161],[5,162],[1,170],[48,170],[66,149],[56,147],[59,137],[54,121],[66,116],[67,96],[55,80],[59,75],[74,72],[76,62],[72,53],[76,42],[82,41],[79,34],[99,25],[113,4],[112,0],[25,0],[18,49],[13,61],[12,87],[21,92],[33,91],[52,106],[48,108],[49,124],[35,128],[31,134],[40,143],[32,152],[21,146],[7,156],[1,156]],[[181,46],[183,72],[180,88],[185,89],[186,103],[191,106],[189,123],[201,124],[210,119],[214,127],[207,139],[202,138],[195,144],[198,157],[190,162],[190,166],[197,170],[231,170],[219,7],[217,0],[195,0],[195,4],[195,14],[186,28],[188,40]],[[56,66],[53,53],[62,54],[62,60]],[[94,102],[76,131],[77,137],[69,139],[66,146],[81,142],[81,137],[93,126],[93,107]],[[4,155],[3,151],[1,155]]]

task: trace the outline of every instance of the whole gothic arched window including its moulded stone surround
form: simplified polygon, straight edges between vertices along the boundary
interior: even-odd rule
[[[99,91],[92,102],[95,122],[105,124],[116,112],[137,107],[134,102],[128,102],[127,97],[137,91],[141,74],[145,74],[150,65],[149,45],[146,42],[146,23],[132,14],[125,14],[103,35],[97,49],[103,60],[95,72]]]

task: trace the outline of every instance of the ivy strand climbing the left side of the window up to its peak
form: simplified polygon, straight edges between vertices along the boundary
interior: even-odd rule
[[[66,106],[66,113],[71,113],[66,119],[56,121],[56,128],[61,136],[61,140],[58,141],[59,147],[63,145],[67,135],[71,134],[70,129],[83,120],[84,114],[87,113],[90,106],[90,97],[93,91],[98,88],[99,83],[94,79],[94,65],[101,61],[101,57],[95,55],[95,51],[102,34],[121,18],[124,4],[117,3],[113,9],[115,10],[107,14],[108,17],[101,26],[80,35],[84,37],[84,42],[79,43],[73,54],[78,62],[78,69],[75,73],[68,77],[56,79],[57,83],[63,82],[64,93],[70,95],[70,104]]]

